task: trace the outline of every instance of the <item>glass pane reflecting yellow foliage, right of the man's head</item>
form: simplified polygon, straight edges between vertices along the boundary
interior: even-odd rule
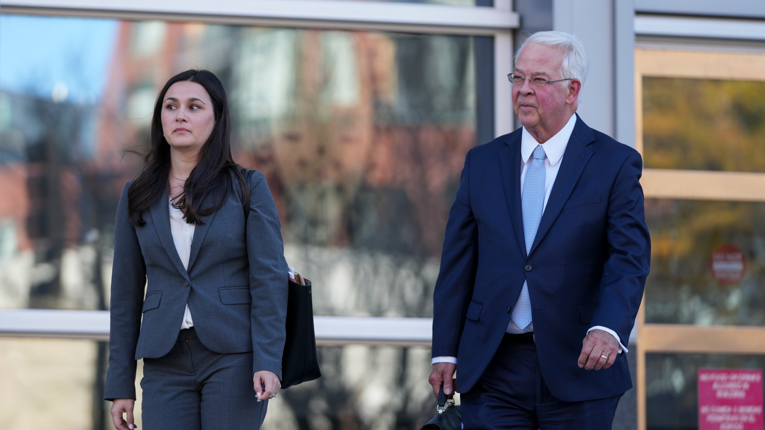
[[[643,77],[646,168],[765,172],[765,82]]]

